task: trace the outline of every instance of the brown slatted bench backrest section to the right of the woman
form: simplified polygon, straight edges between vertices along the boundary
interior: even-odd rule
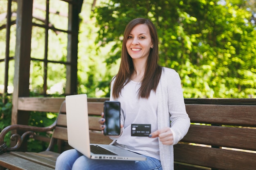
[[[256,169],[255,100],[254,106],[215,102],[186,104],[191,127],[174,147],[175,170]]]

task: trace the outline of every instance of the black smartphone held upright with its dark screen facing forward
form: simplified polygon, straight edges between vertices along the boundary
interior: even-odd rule
[[[104,135],[120,135],[121,104],[118,101],[104,102],[105,129]]]

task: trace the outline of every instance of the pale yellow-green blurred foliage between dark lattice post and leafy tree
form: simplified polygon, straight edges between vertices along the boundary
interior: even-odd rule
[[[96,18],[90,18],[91,8],[90,4],[84,3],[80,14],[78,93],[86,93],[88,97],[104,97],[109,96],[109,82],[112,75],[117,73],[119,61],[106,66],[105,60],[112,53],[115,43],[102,46],[101,42],[96,42],[99,27],[95,26],[98,22]]]

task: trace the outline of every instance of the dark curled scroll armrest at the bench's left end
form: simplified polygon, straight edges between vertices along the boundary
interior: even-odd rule
[[[36,126],[17,125],[17,124],[7,126],[0,133],[0,155],[4,152],[14,151],[14,150],[17,150],[18,148],[20,148],[20,146],[26,136],[29,135],[30,138],[33,138],[35,135],[35,132],[47,132],[49,130],[53,130],[55,128],[55,126],[56,126],[56,121],[54,121],[54,123],[52,125],[46,126],[46,127],[36,127]],[[11,135],[11,140],[12,141],[17,140],[17,143],[13,147],[8,147],[6,145],[6,143],[4,142],[4,137],[7,134],[7,132],[9,132],[11,130],[22,130],[25,132],[21,136],[17,133]]]

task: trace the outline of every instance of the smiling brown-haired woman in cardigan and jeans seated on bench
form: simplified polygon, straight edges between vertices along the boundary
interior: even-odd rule
[[[126,26],[110,100],[121,102],[122,108],[122,133],[110,137],[111,144],[145,155],[147,160],[98,161],[68,150],[58,157],[56,170],[173,170],[173,145],[186,135],[190,119],[178,73],[158,65],[157,31],[150,20],[137,18]],[[104,121],[99,120],[102,130]],[[131,124],[151,124],[152,133],[133,137]]]

